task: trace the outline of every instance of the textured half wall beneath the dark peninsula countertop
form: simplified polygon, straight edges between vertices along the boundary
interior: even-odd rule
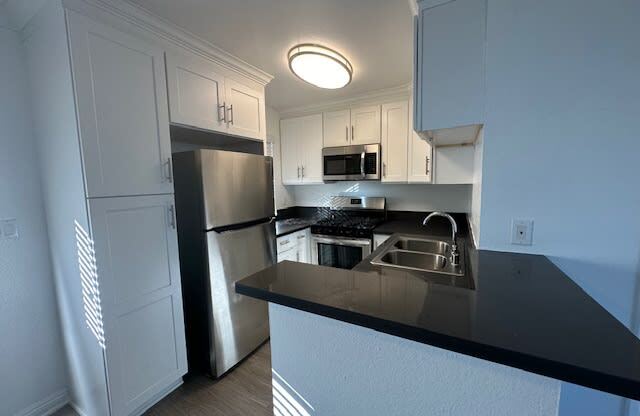
[[[269,315],[275,406],[297,408],[280,414],[557,414],[557,380],[279,305]]]

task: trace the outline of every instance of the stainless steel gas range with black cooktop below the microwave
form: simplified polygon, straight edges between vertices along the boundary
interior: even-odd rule
[[[386,218],[386,199],[334,196],[329,215],[311,226],[311,260],[351,269],[371,254],[373,230]]]

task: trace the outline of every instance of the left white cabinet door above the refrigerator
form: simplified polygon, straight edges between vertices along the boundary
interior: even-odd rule
[[[224,77],[194,55],[167,53],[169,116],[172,123],[225,132]]]

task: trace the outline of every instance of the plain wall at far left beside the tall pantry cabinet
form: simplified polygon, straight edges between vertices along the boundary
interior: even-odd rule
[[[0,414],[43,411],[67,400],[65,358],[17,33],[0,6],[0,218],[18,240],[0,240]]]

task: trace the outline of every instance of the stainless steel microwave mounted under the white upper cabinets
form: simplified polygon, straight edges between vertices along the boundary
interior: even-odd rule
[[[325,147],[322,179],[331,181],[379,181],[380,145]]]

